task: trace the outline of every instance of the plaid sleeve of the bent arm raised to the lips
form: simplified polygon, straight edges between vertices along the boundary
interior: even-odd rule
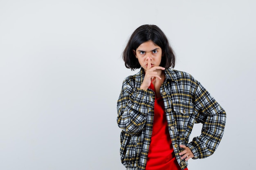
[[[136,135],[143,129],[147,114],[153,109],[154,93],[135,87],[132,77],[124,80],[117,101],[117,124],[125,132]]]

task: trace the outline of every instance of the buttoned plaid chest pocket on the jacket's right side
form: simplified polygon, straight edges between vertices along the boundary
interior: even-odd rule
[[[186,102],[172,102],[173,115],[176,121],[177,130],[180,134],[184,134],[188,126],[193,127],[193,110],[194,106],[192,103]],[[192,128],[190,127],[190,128]]]

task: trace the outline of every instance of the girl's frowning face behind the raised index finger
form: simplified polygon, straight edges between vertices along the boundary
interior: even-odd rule
[[[161,47],[155,45],[151,40],[140,44],[136,51],[133,50],[133,53],[138,59],[141,67],[144,68],[144,71],[146,71],[148,67],[148,58],[150,60],[151,67],[159,66],[162,60]]]

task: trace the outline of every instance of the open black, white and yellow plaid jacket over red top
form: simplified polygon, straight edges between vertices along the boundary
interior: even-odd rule
[[[213,154],[222,138],[226,113],[209,92],[191,75],[166,69],[160,88],[175,157],[182,168],[187,161],[180,159],[180,144],[193,152],[194,158]],[[120,135],[121,162],[127,170],[144,170],[150,145],[155,93],[140,89],[144,70],[127,77],[117,101],[117,124]],[[202,123],[202,134],[189,142],[193,124]]]

